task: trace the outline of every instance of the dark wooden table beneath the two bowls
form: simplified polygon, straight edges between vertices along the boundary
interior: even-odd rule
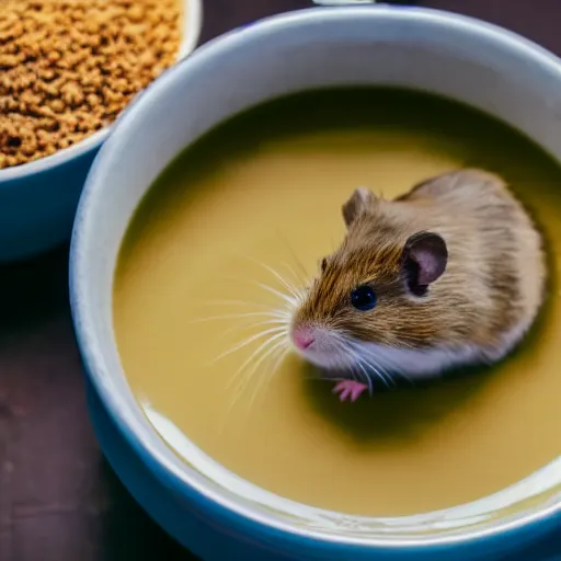
[[[415,3],[500,23],[561,54],[561,0]],[[203,42],[311,0],[205,4]],[[123,489],[92,434],[67,251],[0,267],[0,561],[192,560]]]

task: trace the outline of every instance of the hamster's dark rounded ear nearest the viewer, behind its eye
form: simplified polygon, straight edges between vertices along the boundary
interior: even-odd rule
[[[448,249],[437,233],[417,232],[409,238],[403,251],[403,267],[409,289],[415,296],[423,296],[446,270]]]

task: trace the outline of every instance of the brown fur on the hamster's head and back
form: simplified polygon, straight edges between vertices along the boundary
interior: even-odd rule
[[[392,202],[357,190],[343,215],[347,234],[327,257],[295,325],[402,348],[472,345],[493,358],[513,346],[510,333],[522,336],[533,323],[546,277],[541,239],[500,178],[456,171]],[[445,240],[448,262],[416,297],[407,287],[403,251],[420,231]],[[378,296],[370,311],[351,306],[352,290],[364,284]]]

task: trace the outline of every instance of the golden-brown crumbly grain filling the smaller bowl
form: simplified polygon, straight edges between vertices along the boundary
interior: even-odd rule
[[[1,0],[0,168],[112,123],[173,64],[178,0]]]

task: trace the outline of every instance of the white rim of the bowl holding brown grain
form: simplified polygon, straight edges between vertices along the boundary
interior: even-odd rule
[[[186,26],[183,30],[183,37],[178,50],[178,59],[172,65],[172,67],[181,62],[187,55],[195,50],[203,31],[203,0],[181,1],[184,12],[183,19],[186,21]],[[140,90],[133,96],[127,106],[123,108],[119,115],[117,115],[117,119],[125,112],[128,105],[134,103],[138,96],[144,93],[145,90]],[[58,150],[50,156],[46,156],[45,158],[39,158],[38,160],[34,160],[27,163],[22,163],[21,165],[0,169],[0,188],[4,182],[43,173],[58,165],[64,165],[75,158],[80,158],[83,154],[95,150],[107,138],[117,119],[103,127],[101,130],[98,130],[93,135],[90,135],[83,140],[80,140],[76,145],[64,148],[62,150]]]

